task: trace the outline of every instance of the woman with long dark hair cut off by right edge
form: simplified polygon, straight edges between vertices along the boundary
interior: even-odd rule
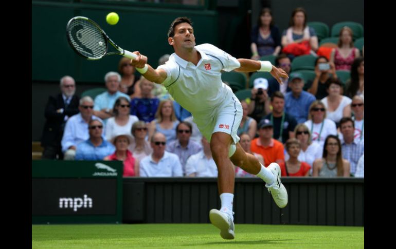
[[[364,98],[365,91],[365,59],[364,57],[356,58],[351,66],[351,79],[346,82],[345,95],[352,98],[354,95],[360,95]]]

